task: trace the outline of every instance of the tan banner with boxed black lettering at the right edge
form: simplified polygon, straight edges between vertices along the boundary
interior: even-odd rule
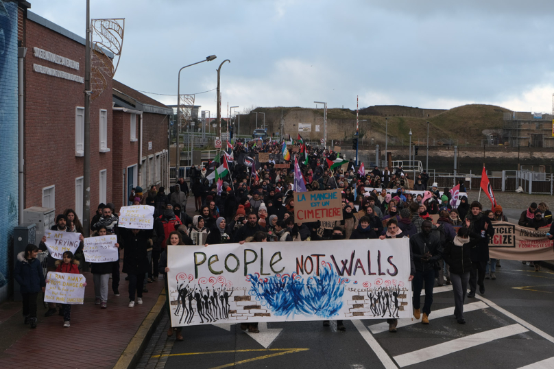
[[[492,226],[494,236],[489,237],[489,254],[493,259],[553,259],[553,240],[546,237],[549,226],[535,229],[508,222],[492,222]]]

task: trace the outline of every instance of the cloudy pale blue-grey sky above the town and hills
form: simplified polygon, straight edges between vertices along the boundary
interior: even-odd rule
[[[29,0],[84,36],[85,0]],[[229,106],[330,108],[495,104],[551,112],[552,0],[91,0],[91,17],[125,18],[115,78],[177,94],[217,86]],[[149,95],[165,104],[176,96]],[[215,115],[215,91],[196,95]]]

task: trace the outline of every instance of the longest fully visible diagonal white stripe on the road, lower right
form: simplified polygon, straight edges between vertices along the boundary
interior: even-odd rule
[[[487,342],[499,340],[511,335],[518,335],[527,331],[528,330],[520,324],[511,324],[509,326],[491,329],[490,331],[457,338],[456,340],[444,342],[443,344],[422,348],[421,350],[415,350],[411,353],[398,355],[393,357],[393,359],[396,361],[398,366],[400,366],[400,368],[403,368],[405,366],[436,359],[437,357],[442,357],[451,353],[457,353],[458,351],[465,350],[466,348],[479,346],[481,344],[486,344]]]

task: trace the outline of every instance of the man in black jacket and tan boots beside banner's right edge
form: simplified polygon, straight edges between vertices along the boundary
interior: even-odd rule
[[[437,232],[431,233],[433,224],[425,220],[421,225],[421,233],[410,238],[410,248],[415,264],[413,276],[413,317],[420,318],[421,290],[425,283],[425,303],[421,322],[429,324],[431,304],[433,304],[433,286],[435,285],[435,262],[442,259],[442,243]]]

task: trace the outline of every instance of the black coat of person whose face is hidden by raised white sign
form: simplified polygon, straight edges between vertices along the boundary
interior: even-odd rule
[[[130,229],[121,230],[117,237],[119,248],[124,250],[123,273],[144,274],[148,272],[148,252],[152,233],[139,230],[136,235]]]

